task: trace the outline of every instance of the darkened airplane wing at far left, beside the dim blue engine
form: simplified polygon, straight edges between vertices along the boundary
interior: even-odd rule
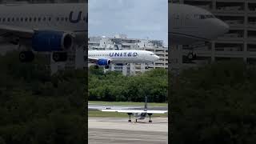
[[[31,38],[34,30],[22,28],[19,26],[0,25],[0,37],[16,36],[19,38]]]

